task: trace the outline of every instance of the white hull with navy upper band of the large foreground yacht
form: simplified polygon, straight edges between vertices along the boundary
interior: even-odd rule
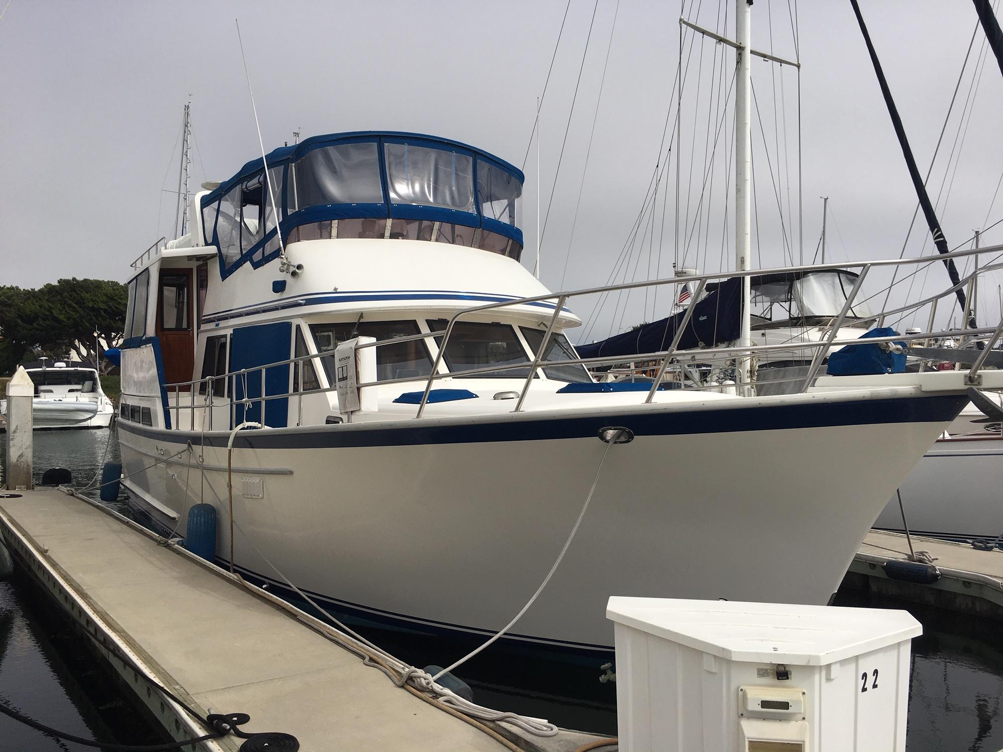
[[[614,594],[824,604],[888,496],[963,402],[803,395],[724,409],[244,431],[233,452],[234,558],[280,581],[267,556],[335,611],[497,630],[575,522],[607,447],[597,429],[623,425],[636,438],[610,448],[575,541],[514,630],[519,639],[608,649]],[[183,454],[143,468],[189,440],[203,444],[204,500],[219,510],[218,555],[229,558],[227,433],[122,422],[119,439],[136,502],[169,528],[178,517],[166,512],[180,513],[181,532],[202,500],[198,463],[186,467]]]

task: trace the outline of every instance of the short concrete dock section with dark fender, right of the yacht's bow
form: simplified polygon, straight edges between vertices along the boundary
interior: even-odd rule
[[[871,530],[844,580],[844,587],[937,606],[965,614],[1003,619],[1003,550],[979,550],[969,543],[912,536],[913,549],[926,551],[940,571],[936,583],[893,580],[883,566],[909,560],[904,533]]]

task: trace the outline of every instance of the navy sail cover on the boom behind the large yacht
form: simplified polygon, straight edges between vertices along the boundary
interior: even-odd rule
[[[725,280],[696,303],[693,317],[679,339],[680,350],[711,347],[738,339],[742,315],[741,284],[740,277]],[[662,352],[672,344],[685,315],[685,311],[680,311],[674,316],[645,324],[630,332],[600,342],[578,345],[576,350],[583,358]]]

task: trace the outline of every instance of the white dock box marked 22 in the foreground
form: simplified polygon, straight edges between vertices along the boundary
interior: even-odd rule
[[[624,752],[904,752],[904,611],[614,597]]]

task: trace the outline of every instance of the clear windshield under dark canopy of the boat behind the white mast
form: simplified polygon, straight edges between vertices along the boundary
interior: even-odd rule
[[[838,270],[753,278],[752,315],[770,322],[832,318],[840,315],[856,281],[856,274]],[[847,317],[874,318],[864,297],[858,298]]]

